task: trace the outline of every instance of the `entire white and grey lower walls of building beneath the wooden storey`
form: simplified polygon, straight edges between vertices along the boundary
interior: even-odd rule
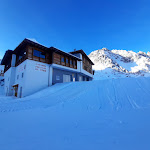
[[[82,61],[77,61],[74,69],[27,59],[5,72],[5,93],[14,95],[13,85],[18,85],[17,97],[28,96],[52,84],[63,83],[63,75],[70,75],[71,81],[89,81],[93,76],[82,68]]]

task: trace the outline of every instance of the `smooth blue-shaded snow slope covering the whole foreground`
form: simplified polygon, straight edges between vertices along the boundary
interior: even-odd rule
[[[150,78],[56,84],[29,97],[0,88],[0,150],[149,150]]]

